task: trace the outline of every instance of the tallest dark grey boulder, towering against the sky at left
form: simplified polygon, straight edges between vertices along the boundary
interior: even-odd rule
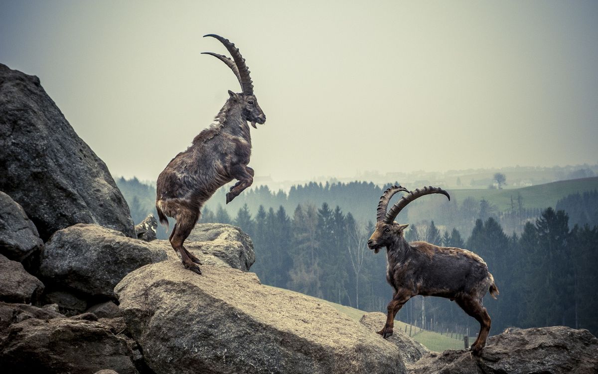
[[[45,241],[75,223],[136,237],[129,206],[108,168],[77,136],[39,78],[0,64],[0,190]]]

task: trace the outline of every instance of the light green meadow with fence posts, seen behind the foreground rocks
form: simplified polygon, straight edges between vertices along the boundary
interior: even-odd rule
[[[269,286],[271,287],[271,286]],[[277,288],[277,287],[273,287]],[[279,289],[284,290],[287,292],[294,292],[286,289]],[[309,296],[312,297],[313,296]],[[314,298],[318,299],[318,298]],[[325,304],[332,306],[332,308],[337,309],[337,311],[348,315],[349,317],[353,318],[353,320],[359,321],[361,317],[367,313],[359,309],[351,308],[350,306],[344,306],[340,304],[336,304],[334,302],[325,301],[323,299],[318,299]],[[407,326],[407,333],[409,332],[409,325],[403,323],[401,321],[395,321],[395,330],[401,329],[405,331],[405,326]],[[380,326],[382,328],[382,326]],[[419,327],[413,327],[413,331],[418,331],[417,333],[413,333],[411,338],[415,339],[416,341],[420,342],[421,344],[425,345],[429,350],[442,352],[444,350],[462,350],[463,349],[463,341],[460,339],[452,339],[450,336],[440,335],[439,333],[431,332],[422,330],[420,332]],[[473,338],[475,339],[475,338]],[[472,338],[469,338],[470,342],[473,342]]]

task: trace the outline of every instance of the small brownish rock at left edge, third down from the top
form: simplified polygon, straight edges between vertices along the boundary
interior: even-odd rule
[[[44,284],[23,268],[20,262],[0,255],[0,301],[36,301],[44,290]]]

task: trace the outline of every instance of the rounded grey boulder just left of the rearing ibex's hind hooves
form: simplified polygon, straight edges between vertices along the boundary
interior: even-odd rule
[[[41,253],[39,274],[53,288],[112,298],[114,286],[129,272],[166,258],[160,246],[79,223],[52,235]]]

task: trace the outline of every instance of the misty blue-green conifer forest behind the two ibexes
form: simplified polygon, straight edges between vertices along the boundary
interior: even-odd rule
[[[152,186],[137,179],[117,183],[136,223],[151,213]],[[219,203],[223,188],[203,209],[200,222],[230,223],[247,232],[257,257],[251,269],[264,284],[386,311],[392,289],[386,283],[385,252],[375,255],[366,245],[385,188],[365,182],[309,183],[286,194],[260,186],[239,197],[236,211],[233,204],[227,210]],[[486,200],[422,199],[398,220],[410,223],[408,241],[468,249],[487,262],[501,292],[497,300],[484,299],[493,319],[491,334],[553,325],[598,333],[598,191],[568,195],[556,209],[526,209],[519,202],[518,209],[507,212]],[[158,230],[158,237],[166,238],[165,229]],[[441,298],[416,296],[397,318],[426,329],[475,329],[462,309]]]

